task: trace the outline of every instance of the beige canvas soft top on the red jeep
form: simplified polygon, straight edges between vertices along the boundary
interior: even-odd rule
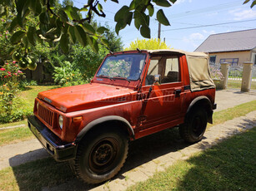
[[[202,91],[215,87],[213,79],[210,76],[207,54],[203,52],[188,52],[174,49],[147,51],[151,54],[175,52],[186,55],[191,91]]]

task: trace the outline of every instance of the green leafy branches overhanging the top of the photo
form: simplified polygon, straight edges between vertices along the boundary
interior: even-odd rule
[[[110,1],[110,0],[109,0]],[[118,0],[111,0],[118,3]],[[107,0],[104,0],[107,2]],[[171,7],[176,0],[132,0],[116,12],[115,32],[130,25],[134,20],[135,27],[143,37],[150,38],[149,21],[155,7]],[[83,17],[82,12],[85,15]],[[36,25],[28,25],[28,16],[33,14]],[[48,42],[50,46],[59,43],[62,51],[68,53],[71,43],[79,42],[83,47],[90,45],[98,52],[98,43],[108,47],[108,39],[103,36],[106,27],[94,27],[91,23],[93,14],[106,17],[103,5],[98,0],[88,0],[82,8],[74,7],[72,1],[63,1],[63,7],[57,0],[2,0],[0,17],[4,17],[6,28],[13,32],[11,42],[23,47],[35,46],[36,42]],[[168,26],[169,22],[163,9],[157,12],[158,22]]]

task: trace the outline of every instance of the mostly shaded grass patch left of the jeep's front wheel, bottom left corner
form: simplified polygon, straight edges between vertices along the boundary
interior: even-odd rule
[[[0,189],[42,190],[73,178],[68,163],[58,163],[52,158],[40,159],[0,170]]]

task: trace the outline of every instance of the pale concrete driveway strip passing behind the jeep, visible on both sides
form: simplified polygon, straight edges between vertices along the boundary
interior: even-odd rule
[[[256,91],[242,93],[238,90],[216,91],[217,110],[224,110],[235,105],[256,100]],[[49,154],[43,149],[38,140],[28,140],[17,144],[0,147],[0,169],[17,166],[36,159],[43,159]]]

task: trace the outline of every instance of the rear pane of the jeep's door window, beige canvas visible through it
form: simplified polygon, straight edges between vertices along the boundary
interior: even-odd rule
[[[166,59],[166,65],[164,75],[162,77],[162,84],[178,82],[179,79],[179,67],[178,57],[171,57]]]

